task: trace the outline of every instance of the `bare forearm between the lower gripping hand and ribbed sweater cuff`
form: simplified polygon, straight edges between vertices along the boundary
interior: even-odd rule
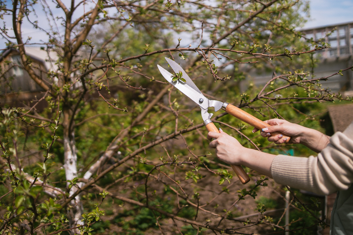
[[[275,157],[276,155],[255,149],[246,149],[241,157],[241,165],[272,178],[271,164]]]

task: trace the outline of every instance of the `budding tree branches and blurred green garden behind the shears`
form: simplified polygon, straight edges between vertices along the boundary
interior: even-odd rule
[[[317,62],[309,51],[327,45],[295,31],[305,21],[306,1],[209,4],[98,1],[97,15],[85,16],[93,15],[93,29],[85,17],[76,25],[70,14],[59,18],[74,26],[65,40],[51,32],[46,47],[42,45],[42,50],[55,50],[59,57],[58,69],[47,71],[52,83],[50,92],[42,93],[45,107],[31,109],[36,98],[22,107],[1,104],[2,234],[271,234],[285,230],[283,200],[275,202],[286,188],[249,168],[245,169],[252,181],[241,185],[231,167],[209,147],[199,107],[169,86],[156,65],[167,68],[164,57],[173,58],[208,98],[232,103],[261,120],[280,117],[323,132],[326,105],[351,99],[323,89],[320,79],[311,80],[307,73]],[[104,9],[113,5],[119,13],[107,17]],[[50,12],[52,6],[44,9]],[[6,16],[8,10],[1,12]],[[25,12],[32,13],[27,8]],[[86,35],[80,33],[83,29]],[[84,36],[79,44],[77,35]],[[20,38],[11,40],[8,47],[21,51]],[[75,55],[70,55],[75,48]],[[28,63],[22,67],[31,71],[35,65],[25,58],[22,62]],[[11,86],[14,77],[7,76],[9,71],[1,67],[1,82]],[[249,79],[252,73],[269,72],[276,79],[265,87]],[[270,143],[222,111],[213,118],[217,127],[247,148],[271,154],[314,154],[300,145]],[[114,153],[85,178],[111,149]],[[77,160],[77,173],[71,179],[66,168],[69,150]],[[73,189],[82,189],[76,199]],[[296,209],[290,228],[314,233],[316,225],[324,225],[322,208],[315,206],[322,198],[311,200],[298,191],[293,196],[312,204],[308,206],[312,214],[293,200]]]

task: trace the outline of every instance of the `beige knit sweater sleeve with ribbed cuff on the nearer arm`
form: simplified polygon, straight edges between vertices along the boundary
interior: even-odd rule
[[[277,155],[271,173],[279,184],[317,194],[347,190],[353,183],[353,122],[336,132],[317,157]]]

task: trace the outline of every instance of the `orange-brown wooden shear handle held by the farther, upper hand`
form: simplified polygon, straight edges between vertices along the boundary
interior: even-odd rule
[[[227,103],[223,104],[223,107],[226,106]],[[242,120],[243,122],[246,122],[247,124],[252,125],[253,127],[256,127],[257,129],[261,130],[262,128],[265,127],[269,127],[271,125],[263,122],[262,120],[252,116],[251,114],[245,112],[244,110],[239,109],[238,107],[228,104],[225,111],[227,113],[229,113],[230,115],[238,118],[239,120]],[[287,140],[285,141],[285,143],[288,143],[288,141],[291,139],[290,136],[284,135],[279,131],[276,132],[272,132],[270,133],[271,136],[275,136],[275,135],[282,135],[282,139],[283,138],[287,138]]]

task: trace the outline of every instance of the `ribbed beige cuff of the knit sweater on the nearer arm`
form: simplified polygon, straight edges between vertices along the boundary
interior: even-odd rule
[[[312,179],[308,174],[310,162],[307,157],[277,155],[271,165],[276,183],[312,191]]]

